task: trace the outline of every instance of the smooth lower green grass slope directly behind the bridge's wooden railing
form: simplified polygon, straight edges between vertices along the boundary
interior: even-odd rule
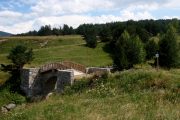
[[[104,44],[91,49],[85,45],[68,45],[35,50],[32,65],[38,66],[48,62],[69,60],[86,66],[106,66],[112,64],[110,56],[103,51]]]

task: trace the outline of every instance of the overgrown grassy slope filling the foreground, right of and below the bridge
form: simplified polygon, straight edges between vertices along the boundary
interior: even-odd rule
[[[77,82],[63,95],[20,105],[2,120],[180,119],[180,71],[128,70]]]

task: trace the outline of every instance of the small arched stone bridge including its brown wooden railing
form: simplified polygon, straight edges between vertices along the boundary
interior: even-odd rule
[[[73,84],[75,72],[86,72],[86,67],[73,62],[57,62],[22,71],[21,89],[28,97],[61,92],[66,84]]]

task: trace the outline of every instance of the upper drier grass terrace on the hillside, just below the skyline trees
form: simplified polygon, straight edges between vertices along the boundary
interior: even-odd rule
[[[46,47],[83,44],[81,36],[31,36],[31,37],[1,37],[0,40],[6,40],[0,43],[0,54],[5,54],[16,45],[25,45],[33,49],[41,49]]]

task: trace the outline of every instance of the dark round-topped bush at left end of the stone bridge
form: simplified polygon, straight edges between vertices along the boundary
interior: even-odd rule
[[[2,71],[9,72],[11,77],[3,85],[10,87],[12,92],[20,92],[21,70],[23,66],[33,60],[33,51],[25,46],[17,45],[11,49],[7,58],[12,62],[9,65],[1,65]]]

